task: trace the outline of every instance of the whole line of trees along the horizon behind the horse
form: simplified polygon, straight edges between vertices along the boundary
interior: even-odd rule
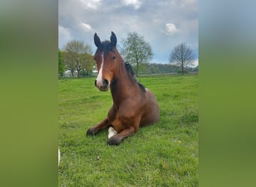
[[[153,58],[153,52],[143,36],[136,32],[129,32],[127,37],[121,40],[122,46],[118,46],[124,61],[129,61],[139,74],[152,73],[186,73],[198,71],[198,67],[189,67],[193,63],[192,49],[186,43],[180,43],[174,47],[169,56],[169,64],[149,63]],[[83,41],[70,40],[64,49],[58,49],[58,76],[91,76],[95,73],[93,51],[90,45]]]

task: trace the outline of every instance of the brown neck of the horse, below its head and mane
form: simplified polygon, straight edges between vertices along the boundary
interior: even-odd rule
[[[118,76],[111,88],[114,105],[119,105],[124,99],[132,96],[137,87],[135,80],[127,72],[124,61],[120,62]]]

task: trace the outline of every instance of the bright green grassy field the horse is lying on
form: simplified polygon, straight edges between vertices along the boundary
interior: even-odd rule
[[[58,82],[59,186],[198,186],[198,75],[139,77],[156,94],[160,120],[118,147],[106,144],[107,131],[85,135],[112,105],[94,79]]]

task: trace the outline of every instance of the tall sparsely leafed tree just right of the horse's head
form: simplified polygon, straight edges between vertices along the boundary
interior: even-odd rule
[[[130,64],[136,66],[135,72],[136,76],[138,76],[138,65],[147,63],[153,57],[150,43],[147,43],[144,37],[136,32],[129,32],[122,43],[121,55],[124,56],[125,61],[129,61]]]

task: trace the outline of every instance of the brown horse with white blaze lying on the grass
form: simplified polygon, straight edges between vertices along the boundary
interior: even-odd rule
[[[94,135],[109,127],[110,145],[118,145],[138,131],[139,126],[147,126],[159,120],[159,107],[156,96],[139,84],[128,63],[124,63],[116,45],[114,32],[109,41],[100,41],[94,34],[97,51],[94,59],[97,63],[98,75],[95,86],[100,91],[112,93],[113,105],[106,119],[91,127],[87,135]]]

